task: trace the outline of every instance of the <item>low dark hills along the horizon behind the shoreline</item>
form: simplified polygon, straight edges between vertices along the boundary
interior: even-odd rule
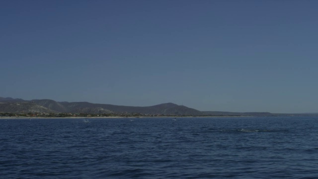
[[[23,100],[20,98],[0,97],[0,113],[85,113],[85,114],[142,114],[173,116],[275,116],[269,112],[222,112],[199,111],[184,105],[163,103],[153,106],[136,107],[90,102],[57,102],[51,99]],[[317,113],[315,113],[317,115]],[[293,114],[295,115],[295,114]],[[304,115],[304,114],[302,114]],[[314,114],[312,114],[314,115]]]

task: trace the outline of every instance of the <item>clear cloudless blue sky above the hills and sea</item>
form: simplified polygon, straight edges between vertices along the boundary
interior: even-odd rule
[[[318,112],[317,0],[1,0],[0,96]]]

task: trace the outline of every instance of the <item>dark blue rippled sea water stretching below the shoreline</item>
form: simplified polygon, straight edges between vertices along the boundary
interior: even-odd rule
[[[318,178],[318,117],[1,119],[0,178]]]

